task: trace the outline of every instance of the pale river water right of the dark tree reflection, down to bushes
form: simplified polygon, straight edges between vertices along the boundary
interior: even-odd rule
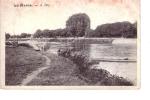
[[[137,53],[136,44],[92,44],[90,51],[91,59],[106,59],[99,62],[96,68],[102,68],[111,74],[124,77],[134,84],[137,80]],[[107,62],[108,59],[108,62]],[[119,62],[127,59],[125,62]],[[116,60],[116,61],[109,61]],[[129,62],[128,62],[129,61]],[[130,62],[131,61],[131,62]]]

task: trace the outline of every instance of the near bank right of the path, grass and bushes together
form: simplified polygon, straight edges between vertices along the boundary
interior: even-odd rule
[[[47,52],[51,59],[50,67],[42,71],[28,85],[66,85],[66,86],[132,86],[132,82],[110,74],[104,69],[86,68],[88,64],[83,58],[76,56],[73,61],[68,57],[57,56]],[[82,61],[81,61],[82,60]],[[85,64],[86,63],[86,64]]]

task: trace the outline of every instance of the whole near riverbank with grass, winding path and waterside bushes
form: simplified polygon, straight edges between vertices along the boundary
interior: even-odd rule
[[[47,64],[45,55],[50,59]],[[46,67],[46,68],[45,68]],[[79,73],[80,66],[68,58],[40,53],[23,46],[6,47],[6,85],[131,86],[128,80],[103,69]]]

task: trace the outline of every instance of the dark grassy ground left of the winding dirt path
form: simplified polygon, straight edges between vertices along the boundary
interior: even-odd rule
[[[19,85],[32,71],[44,65],[40,53],[25,46],[6,47],[6,85]]]

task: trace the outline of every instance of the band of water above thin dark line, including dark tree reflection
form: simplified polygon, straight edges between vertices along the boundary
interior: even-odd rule
[[[59,49],[69,48],[80,51],[89,59],[126,59],[136,61],[137,52],[135,44],[79,44],[65,42],[50,42],[50,51],[57,52]]]

